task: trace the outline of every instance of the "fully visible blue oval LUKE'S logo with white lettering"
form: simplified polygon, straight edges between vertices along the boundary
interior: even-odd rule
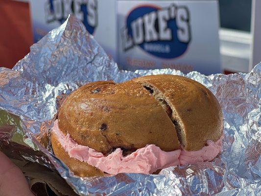
[[[189,17],[189,10],[184,6],[139,6],[126,18],[123,49],[139,46],[160,58],[179,57],[188,49],[191,40]]]

